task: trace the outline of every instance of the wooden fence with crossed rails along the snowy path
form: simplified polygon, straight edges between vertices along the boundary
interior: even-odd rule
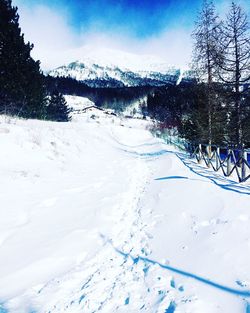
[[[249,150],[199,144],[192,155],[196,157],[198,163],[204,161],[207,167],[216,172],[221,170],[226,177],[236,174],[241,183],[250,179]]]

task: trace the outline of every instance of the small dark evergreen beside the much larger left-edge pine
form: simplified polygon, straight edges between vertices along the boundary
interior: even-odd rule
[[[50,96],[46,109],[46,118],[51,121],[68,122],[70,120],[71,109],[67,106],[64,96],[58,91],[54,91]]]

